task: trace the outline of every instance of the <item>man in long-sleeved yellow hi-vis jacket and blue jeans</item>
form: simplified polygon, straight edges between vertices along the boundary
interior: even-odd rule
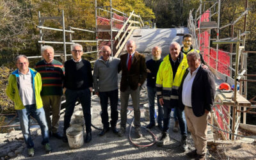
[[[157,96],[164,110],[163,133],[158,143],[159,145],[165,145],[170,141],[168,134],[170,128],[170,113],[172,108],[178,107],[178,90],[186,68],[188,68],[186,54],[180,52],[180,45],[177,42],[172,42],[169,49],[170,54],[168,54],[161,63],[156,79]],[[188,132],[184,111],[177,108],[177,116],[179,119],[180,134],[182,134],[181,146],[186,150],[188,148],[186,143]]]

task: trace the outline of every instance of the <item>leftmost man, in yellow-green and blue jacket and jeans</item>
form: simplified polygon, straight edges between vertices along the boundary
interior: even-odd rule
[[[49,144],[49,132],[40,96],[42,90],[41,76],[29,68],[29,61],[26,56],[17,56],[15,62],[17,70],[9,76],[6,95],[13,100],[14,108],[19,115],[20,128],[28,148],[28,156],[33,157],[35,154],[34,143],[29,131],[30,116],[35,118],[40,125],[42,145],[44,145],[45,151],[49,153],[52,149]]]

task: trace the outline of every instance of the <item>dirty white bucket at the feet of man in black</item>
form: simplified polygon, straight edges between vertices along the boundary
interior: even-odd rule
[[[67,129],[68,145],[70,148],[79,148],[84,144],[83,127],[75,125]]]

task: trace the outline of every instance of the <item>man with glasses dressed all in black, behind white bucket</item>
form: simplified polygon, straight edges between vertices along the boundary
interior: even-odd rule
[[[64,115],[63,141],[67,142],[66,130],[76,106],[77,98],[81,102],[86,127],[85,142],[92,140],[92,68],[89,61],[82,60],[83,47],[80,44],[71,46],[72,60],[65,62],[65,79],[63,92],[66,95],[66,111]]]

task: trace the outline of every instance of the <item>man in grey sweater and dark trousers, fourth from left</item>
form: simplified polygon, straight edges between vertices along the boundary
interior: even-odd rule
[[[93,85],[96,95],[100,97],[101,106],[101,122],[103,129],[99,136],[103,136],[109,131],[108,121],[108,99],[111,108],[111,130],[117,133],[116,122],[118,120],[118,64],[119,58],[111,57],[111,49],[108,45],[104,45],[101,49],[102,56],[95,61],[93,69]]]

